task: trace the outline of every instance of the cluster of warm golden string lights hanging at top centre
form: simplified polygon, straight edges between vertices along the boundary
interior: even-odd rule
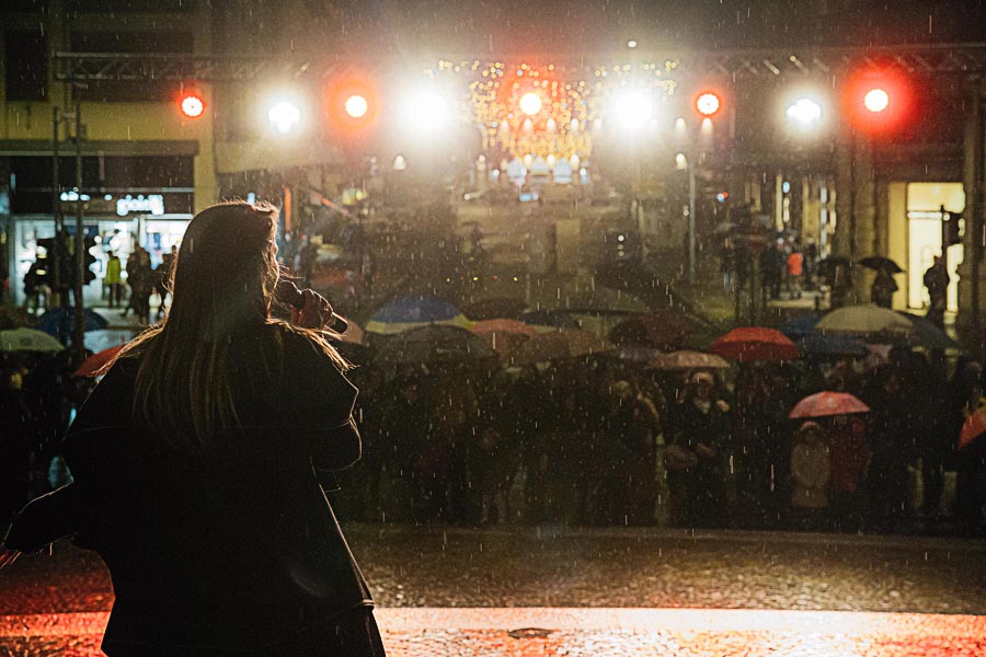
[[[468,119],[480,130],[483,150],[493,161],[516,158],[523,163],[528,154],[546,161],[549,155],[555,161],[572,161],[575,154],[588,159],[594,132],[608,125],[614,97],[630,88],[649,96],[651,112],[656,112],[677,89],[676,69],[673,60],[614,62],[586,70],[475,59],[439,60],[424,74],[432,82],[460,80]]]

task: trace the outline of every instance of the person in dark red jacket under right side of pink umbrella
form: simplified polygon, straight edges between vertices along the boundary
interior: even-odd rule
[[[862,528],[864,499],[861,491],[871,457],[867,424],[858,417],[835,416],[829,422],[828,438],[834,527],[855,533]]]

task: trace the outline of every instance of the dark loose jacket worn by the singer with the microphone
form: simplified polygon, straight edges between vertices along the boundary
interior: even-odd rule
[[[130,419],[136,361],[117,362],[65,441],[74,482],[28,505],[7,544],[61,535],[100,553],[116,601],[103,648],[263,650],[332,613],[372,603],[316,468],[359,457],[356,390],[307,337],[236,338],[241,428],[229,447],[163,447]],[[260,354],[283,349],[266,370]]]

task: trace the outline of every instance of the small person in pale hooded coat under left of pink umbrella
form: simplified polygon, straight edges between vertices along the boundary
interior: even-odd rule
[[[830,481],[832,456],[825,429],[816,422],[805,422],[791,446],[791,508],[795,526],[825,527]]]

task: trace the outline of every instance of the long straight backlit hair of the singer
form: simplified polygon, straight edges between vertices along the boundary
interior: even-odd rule
[[[341,368],[345,360],[314,331],[268,319],[279,275],[277,210],[266,204],[229,201],[206,208],[188,223],[168,286],[171,310],[121,353],[139,358],[134,414],[174,449],[222,447],[239,426],[238,380],[231,348],[265,324],[301,333]],[[282,332],[261,349],[260,364],[273,380],[283,359]]]

